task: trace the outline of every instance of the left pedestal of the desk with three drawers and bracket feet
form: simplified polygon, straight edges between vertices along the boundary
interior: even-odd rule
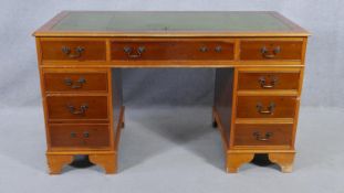
[[[87,156],[106,173],[117,171],[124,126],[121,69],[40,67],[51,174],[75,156]]]

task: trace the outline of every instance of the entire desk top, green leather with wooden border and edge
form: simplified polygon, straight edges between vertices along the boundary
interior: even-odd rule
[[[35,36],[306,36],[271,11],[63,11]]]

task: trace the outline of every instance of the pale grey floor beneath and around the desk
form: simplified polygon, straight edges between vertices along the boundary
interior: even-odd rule
[[[210,107],[127,107],[115,175],[98,167],[49,175],[42,109],[0,117],[0,193],[344,192],[344,109],[301,108],[292,173],[250,163],[227,174]]]

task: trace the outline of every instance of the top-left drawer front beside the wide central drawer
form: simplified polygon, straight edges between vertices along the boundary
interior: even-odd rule
[[[105,61],[104,41],[41,41],[43,61]]]

